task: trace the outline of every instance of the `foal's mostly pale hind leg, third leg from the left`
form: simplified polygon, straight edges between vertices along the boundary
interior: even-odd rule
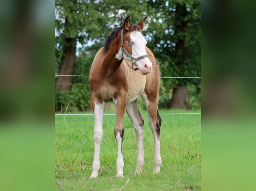
[[[139,174],[144,166],[144,148],[143,148],[143,125],[144,120],[138,110],[137,100],[126,105],[126,111],[130,117],[137,140],[137,159],[135,173]]]

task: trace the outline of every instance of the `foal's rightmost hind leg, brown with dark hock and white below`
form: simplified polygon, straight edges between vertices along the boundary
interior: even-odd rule
[[[160,127],[161,117],[157,109],[157,99],[147,97],[145,93],[142,94],[142,99],[148,111],[149,124],[154,138],[154,170],[153,173],[160,172],[162,166],[161,154],[160,154]]]

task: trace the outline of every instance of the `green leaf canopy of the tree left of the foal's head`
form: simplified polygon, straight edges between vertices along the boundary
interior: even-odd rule
[[[101,1],[56,0],[55,1],[55,64],[60,66],[65,47],[70,46],[69,39],[85,45],[89,40],[101,40],[105,23],[109,18],[104,14],[107,4]],[[101,24],[101,23],[104,23]]]

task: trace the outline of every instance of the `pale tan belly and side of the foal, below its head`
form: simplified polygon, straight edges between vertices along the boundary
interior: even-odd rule
[[[133,71],[129,73],[129,90],[127,93],[127,102],[136,100],[144,91],[146,85],[146,76]]]

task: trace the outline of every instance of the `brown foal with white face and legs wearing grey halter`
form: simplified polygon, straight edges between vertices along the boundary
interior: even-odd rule
[[[118,156],[117,177],[123,177],[122,142],[124,138],[123,119],[125,109],[132,121],[137,139],[136,173],[144,166],[143,125],[144,120],[137,107],[141,95],[148,111],[151,131],[154,137],[154,170],[159,173],[160,126],[161,118],[157,109],[160,71],[153,53],[146,47],[146,39],[141,31],[146,17],[138,24],[124,24],[113,31],[106,39],[104,47],[96,54],[90,71],[91,103],[94,112],[94,159],[90,178],[97,178],[100,169],[100,144],[105,103],[113,101],[116,106],[116,125],[114,129]],[[134,68],[134,65],[137,68]],[[137,71],[138,70],[138,71]]]

